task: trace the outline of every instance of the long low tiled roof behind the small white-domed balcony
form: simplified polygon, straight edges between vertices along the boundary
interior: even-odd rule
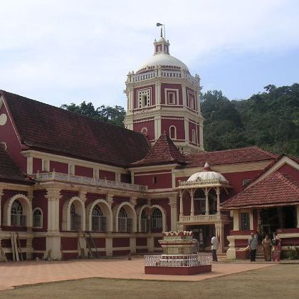
[[[206,161],[211,166],[220,164],[234,164],[245,162],[256,162],[268,159],[276,159],[277,155],[272,152],[266,152],[259,147],[243,147],[234,150],[221,150],[216,152],[200,152],[199,154],[190,154],[187,157],[187,167],[203,166]]]

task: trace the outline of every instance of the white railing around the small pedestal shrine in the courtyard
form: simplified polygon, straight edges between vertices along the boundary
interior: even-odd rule
[[[146,267],[196,267],[211,265],[211,254],[145,256]]]

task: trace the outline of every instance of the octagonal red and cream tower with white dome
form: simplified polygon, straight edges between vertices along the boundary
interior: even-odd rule
[[[127,74],[125,127],[143,132],[154,144],[163,132],[179,150],[204,150],[199,75],[169,54],[169,41],[154,40],[154,56]]]

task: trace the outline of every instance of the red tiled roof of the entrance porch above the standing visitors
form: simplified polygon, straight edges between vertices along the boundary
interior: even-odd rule
[[[288,174],[273,172],[261,182],[247,187],[231,197],[221,207],[234,209],[246,206],[274,206],[299,203],[298,179]]]

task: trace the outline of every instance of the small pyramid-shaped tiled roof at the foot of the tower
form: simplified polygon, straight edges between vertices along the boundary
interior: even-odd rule
[[[164,132],[154,146],[150,149],[144,159],[132,163],[132,166],[145,166],[152,164],[169,164],[178,163],[184,164],[185,159],[183,154],[179,152],[174,142],[169,138],[166,132]]]

